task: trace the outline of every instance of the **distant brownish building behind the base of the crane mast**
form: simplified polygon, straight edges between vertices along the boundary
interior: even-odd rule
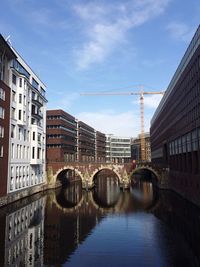
[[[151,146],[150,146],[150,134],[144,134],[145,140],[145,158],[144,161],[151,161]],[[141,161],[141,137],[138,135],[137,138],[131,140],[131,158],[136,161]]]

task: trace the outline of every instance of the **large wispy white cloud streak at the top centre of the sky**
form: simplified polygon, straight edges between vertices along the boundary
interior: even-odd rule
[[[104,61],[130,29],[162,14],[170,0],[132,0],[123,4],[79,4],[74,10],[86,27],[88,40],[75,51],[79,69]]]

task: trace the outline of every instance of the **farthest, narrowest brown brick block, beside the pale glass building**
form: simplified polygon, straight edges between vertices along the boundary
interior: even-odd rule
[[[96,162],[106,161],[106,135],[96,131]]]

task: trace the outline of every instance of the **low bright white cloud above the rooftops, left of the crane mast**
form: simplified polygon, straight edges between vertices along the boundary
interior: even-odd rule
[[[140,118],[134,111],[116,113],[111,110],[81,112],[76,117],[106,134],[137,136],[140,132]]]

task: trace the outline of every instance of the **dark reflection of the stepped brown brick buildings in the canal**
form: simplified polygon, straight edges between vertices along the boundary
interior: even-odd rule
[[[45,213],[44,264],[59,266],[86,239],[102,215],[92,205],[87,194],[83,196],[81,206],[75,206],[73,211],[62,207],[61,203],[58,207],[53,199],[54,192],[48,197]]]

